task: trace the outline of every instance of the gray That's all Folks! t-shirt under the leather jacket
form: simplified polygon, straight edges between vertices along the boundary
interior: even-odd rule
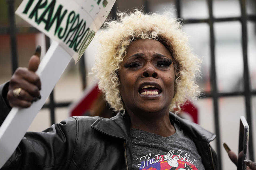
[[[133,170],[205,170],[194,142],[178,125],[168,137],[130,128]]]

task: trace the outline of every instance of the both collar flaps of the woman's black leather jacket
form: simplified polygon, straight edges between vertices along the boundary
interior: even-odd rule
[[[169,112],[169,114],[170,120],[178,124],[192,138],[205,141],[207,143],[215,139],[215,134],[203,129],[200,125],[182,119],[172,112]],[[121,114],[118,113],[116,116],[110,119],[99,118],[91,125],[91,127],[107,135],[128,140],[130,131],[130,117],[128,114],[121,117]]]

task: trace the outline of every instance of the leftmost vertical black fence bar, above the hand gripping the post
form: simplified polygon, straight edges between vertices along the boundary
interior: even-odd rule
[[[15,26],[15,15],[14,15],[14,0],[7,0],[6,2],[8,4],[9,34],[10,34],[10,40],[11,40],[12,73],[14,73],[14,71],[18,67],[16,26]]]

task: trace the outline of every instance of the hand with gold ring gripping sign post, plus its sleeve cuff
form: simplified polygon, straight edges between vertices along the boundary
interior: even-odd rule
[[[37,46],[28,68],[19,67],[9,82],[0,86],[0,125],[12,107],[26,108],[40,98],[41,81],[35,71],[40,63],[41,47]]]

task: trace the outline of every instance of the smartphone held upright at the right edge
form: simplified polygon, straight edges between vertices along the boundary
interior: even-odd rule
[[[240,117],[239,128],[239,147],[237,170],[246,170],[246,164],[243,160],[247,159],[248,153],[249,126],[244,116]]]

